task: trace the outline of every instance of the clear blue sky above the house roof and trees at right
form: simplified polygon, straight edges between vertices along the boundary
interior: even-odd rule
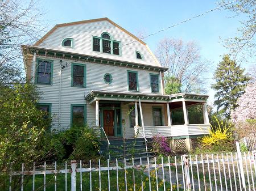
[[[75,22],[78,20],[96,19],[108,17],[127,31],[136,34],[142,31],[148,35],[166,28],[192,16],[201,14],[218,5],[216,1],[193,0],[193,1],[78,1],[43,0],[43,9],[47,14],[44,19],[48,20],[50,27],[59,23]],[[167,31],[144,39],[151,50],[155,52],[156,45],[163,37],[175,37],[184,41],[194,40],[201,47],[201,56],[213,62],[210,66],[210,74],[207,79],[210,95],[209,103],[212,103],[214,92],[210,90],[210,83],[214,81],[212,73],[221,55],[228,53],[223,47],[220,37],[225,39],[235,36],[238,22],[241,18],[229,18],[231,12],[216,10],[180,24]],[[50,28],[49,28],[50,29]],[[246,65],[242,65],[247,67]]]

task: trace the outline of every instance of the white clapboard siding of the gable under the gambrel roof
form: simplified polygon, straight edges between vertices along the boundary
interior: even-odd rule
[[[92,51],[92,36],[100,37],[102,32],[108,32],[112,35],[113,40],[121,42],[121,56],[102,53],[98,57],[160,66],[145,45],[108,22],[108,20],[58,27],[38,46],[70,53],[96,56],[99,52]],[[73,48],[61,46],[61,42],[66,38],[73,38]],[[138,60],[135,57],[136,50],[143,54],[143,60]]]

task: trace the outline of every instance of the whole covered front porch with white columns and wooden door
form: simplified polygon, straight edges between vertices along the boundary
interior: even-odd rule
[[[104,130],[107,137],[151,138],[161,134],[165,137],[189,138],[209,134],[207,95],[197,94],[137,94],[91,91],[85,99],[95,108],[95,126]],[[202,120],[190,123],[189,108],[201,105]],[[183,120],[175,121],[175,112]],[[203,117],[202,117],[203,116]]]

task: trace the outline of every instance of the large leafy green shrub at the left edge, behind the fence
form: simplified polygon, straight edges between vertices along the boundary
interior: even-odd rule
[[[51,119],[36,109],[39,92],[30,83],[0,84],[0,190],[6,190],[10,169],[20,170],[22,163],[31,169],[33,161],[52,156],[45,134]],[[19,179],[13,177],[13,190]]]

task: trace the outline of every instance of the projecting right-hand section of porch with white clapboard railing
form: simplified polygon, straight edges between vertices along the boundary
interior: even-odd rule
[[[135,132],[138,130],[139,132],[142,131],[145,137],[153,137],[154,135],[161,134],[165,137],[172,138],[189,138],[209,134],[210,124],[206,103],[208,98],[207,95],[180,93],[168,96],[170,97],[170,100],[166,103],[167,125],[144,126],[144,128],[143,126],[135,126]],[[190,123],[188,109],[197,105],[201,105],[201,116],[203,116],[203,120],[195,120],[191,118],[191,121],[193,122]],[[172,119],[172,116],[174,116],[174,112],[176,111],[182,113],[182,120],[174,121]],[[200,118],[201,116],[197,116],[197,118]],[[143,136],[139,133],[138,137]]]

